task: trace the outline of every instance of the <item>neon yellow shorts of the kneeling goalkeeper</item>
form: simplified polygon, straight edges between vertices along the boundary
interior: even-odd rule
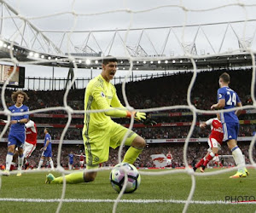
[[[129,131],[129,135],[125,140],[125,145],[131,146],[131,142],[137,137],[137,134],[113,121],[104,128],[89,130],[88,133],[84,128],[86,168],[95,168],[97,164],[108,161],[109,147],[113,149],[119,147],[127,131]]]

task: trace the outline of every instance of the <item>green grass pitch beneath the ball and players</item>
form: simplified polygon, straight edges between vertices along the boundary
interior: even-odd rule
[[[118,193],[110,185],[109,172],[109,170],[100,171],[96,181],[91,183],[67,185],[65,199],[92,199],[96,202],[64,202],[60,212],[112,212],[112,200],[117,198]],[[256,197],[256,170],[250,169],[249,172],[250,176],[240,179],[229,178],[234,175],[234,171],[218,176],[196,176],[193,200],[224,201],[226,196]],[[23,174],[20,177],[1,176],[0,212],[55,212],[59,203],[46,202],[46,200],[60,199],[62,185],[45,184],[46,174],[40,172]],[[59,174],[54,173],[54,175]],[[170,203],[167,200],[186,200],[190,187],[191,177],[187,174],[143,175],[137,191],[125,194],[122,199],[158,199],[166,200],[166,202],[119,203],[117,212],[182,212],[184,204]],[[6,198],[41,199],[41,202],[3,200]],[[256,204],[189,204],[188,212],[255,212],[255,210]]]

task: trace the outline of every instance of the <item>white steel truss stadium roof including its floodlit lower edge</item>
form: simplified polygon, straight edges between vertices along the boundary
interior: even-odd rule
[[[251,49],[256,49],[256,41],[254,41],[256,20],[246,20],[247,25],[251,26],[249,28],[254,29],[248,35],[239,32],[245,22],[241,20],[130,29],[129,33],[134,37],[131,42],[124,38],[127,29],[72,33],[43,31],[3,0],[0,0],[0,9],[2,11],[0,59],[2,60],[15,58],[20,63],[35,65],[100,69],[101,59],[106,55],[114,55],[118,58],[119,69],[129,69],[132,62],[133,70],[146,71],[190,70],[193,69],[192,59],[197,69],[253,65],[254,53]],[[181,38],[183,27],[188,29],[190,34],[194,33],[189,40]],[[222,34],[217,45],[214,45],[216,43],[214,37],[207,33],[207,29],[214,27],[218,28],[218,34]],[[101,43],[98,33],[107,37],[107,40]],[[59,43],[54,41],[53,35],[56,34],[61,38]],[[82,35],[84,42],[81,44],[80,40],[74,41],[71,34]],[[232,43],[225,44],[227,40],[232,40]],[[229,48],[229,45],[232,48]]]

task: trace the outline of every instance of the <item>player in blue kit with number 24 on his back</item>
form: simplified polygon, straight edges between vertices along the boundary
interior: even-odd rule
[[[219,89],[217,96],[217,104],[213,104],[211,109],[231,109],[234,107],[242,107],[241,101],[233,89],[229,88],[230,75],[224,72],[218,80]],[[241,149],[237,146],[237,136],[239,132],[239,120],[241,110],[234,110],[231,112],[221,112],[220,118],[224,130],[224,141],[227,141],[236,165],[239,166],[239,170],[234,176],[230,178],[246,177],[248,175],[245,168],[245,160],[241,153]]]

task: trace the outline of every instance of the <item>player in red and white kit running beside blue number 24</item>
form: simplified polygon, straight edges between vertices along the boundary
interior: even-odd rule
[[[201,129],[205,129],[209,125],[211,125],[212,132],[208,139],[208,153],[204,158],[201,158],[201,160],[193,167],[194,170],[201,167],[201,172],[204,172],[209,161],[211,161],[212,158],[214,158],[215,155],[218,154],[218,149],[221,147],[224,137],[223,127],[220,122],[219,114],[217,114],[217,118],[211,118],[207,120],[207,122],[202,123],[200,127]]]

